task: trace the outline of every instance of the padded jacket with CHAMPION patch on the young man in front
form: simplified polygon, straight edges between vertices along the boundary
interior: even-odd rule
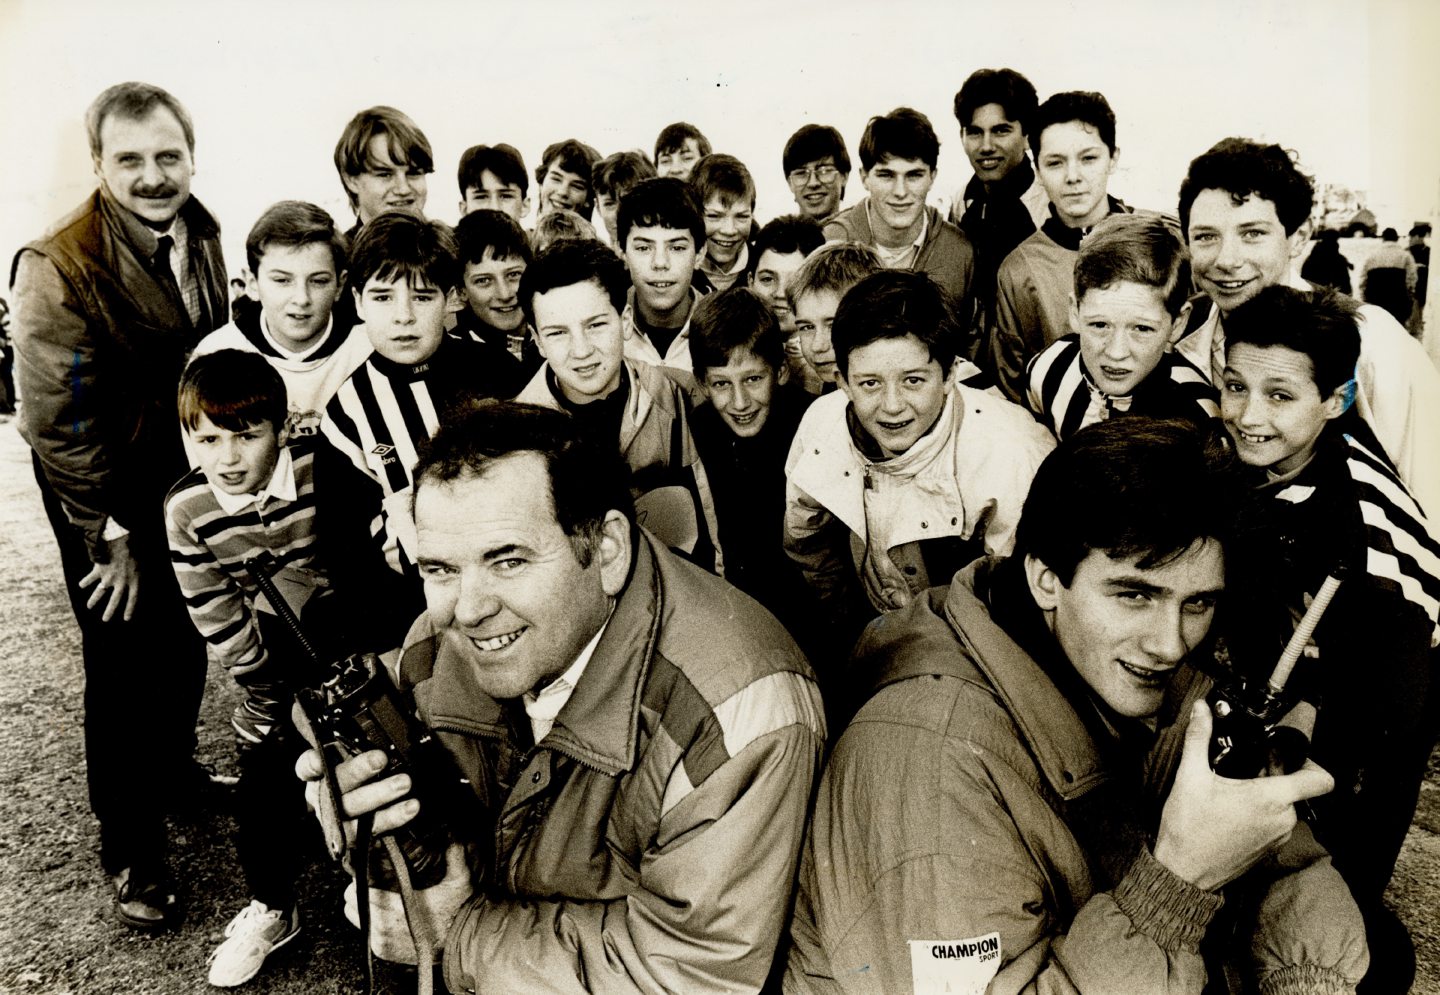
[[[791,995],[1205,983],[1197,947],[1223,899],[1159,864],[1112,802],[1162,795],[1184,739],[1168,720],[1188,716],[1207,683],[1189,668],[1175,678],[1191,680],[1161,714],[1146,772],[1123,775],[991,618],[976,579],[992,566],[887,616],[857,649],[877,690],[821,779],[791,926]],[[1094,847],[1073,828],[1086,822]],[[1135,855],[1112,835],[1129,837]],[[1106,865],[1097,851],[1112,847]],[[1240,966],[1260,991],[1351,991],[1368,963],[1359,910],[1303,825],[1283,860],[1247,880],[1261,904],[1254,932],[1237,933],[1253,936],[1253,963]],[[913,963],[952,988],[923,986]]]

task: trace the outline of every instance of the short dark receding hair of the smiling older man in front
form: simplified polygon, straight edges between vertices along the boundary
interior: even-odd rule
[[[590,564],[606,513],[625,515],[634,540],[635,501],[619,449],[595,432],[577,432],[570,415],[539,405],[475,402],[431,439],[415,465],[415,491],[484,477],[497,459],[521,452],[544,459],[556,521],[582,567]]]

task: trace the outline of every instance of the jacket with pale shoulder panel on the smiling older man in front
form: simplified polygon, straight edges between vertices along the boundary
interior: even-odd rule
[[[480,691],[428,616],[400,678],[492,819],[452,992],[753,992],[785,924],[825,726],[759,605],[641,531],[554,726]]]

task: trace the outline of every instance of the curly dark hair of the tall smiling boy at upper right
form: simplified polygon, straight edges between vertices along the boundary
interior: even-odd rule
[[[1272,202],[1286,235],[1295,235],[1315,204],[1315,186],[1295,157],[1280,145],[1248,138],[1223,138],[1191,160],[1179,184],[1179,223],[1187,238],[1189,207],[1202,190],[1224,190],[1237,206],[1247,197]]]

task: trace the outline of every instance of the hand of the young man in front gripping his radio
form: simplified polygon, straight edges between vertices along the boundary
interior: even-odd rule
[[[1210,706],[1197,701],[1175,785],[1161,812],[1155,860],[1195,887],[1214,891],[1283,842],[1295,828],[1295,803],[1329,792],[1335,780],[1313,760],[1274,778],[1221,778],[1210,769]]]

